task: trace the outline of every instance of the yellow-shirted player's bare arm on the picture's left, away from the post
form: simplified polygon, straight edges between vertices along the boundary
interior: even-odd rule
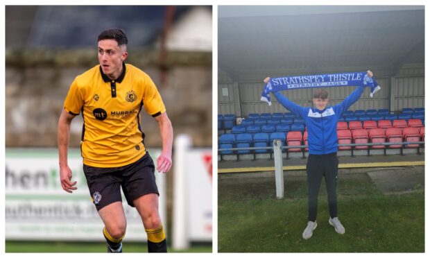
[[[60,182],[61,187],[65,191],[71,193],[76,190],[75,182],[71,182],[71,169],[67,164],[67,149],[69,148],[69,135],[71,120],[74,119],[73,114],[69,114],[65,109],[62,110],[60,119],[58,120],[58,157],[60,163]]]

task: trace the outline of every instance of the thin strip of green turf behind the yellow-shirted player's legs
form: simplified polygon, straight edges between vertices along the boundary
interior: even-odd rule
[[[106,243],[6,241],[6,252],[106,252]],[[148,252],[146,243],[124,243],[123,252]],[[167,252],[212,252],[212,244],[196,244],[187,250]]]

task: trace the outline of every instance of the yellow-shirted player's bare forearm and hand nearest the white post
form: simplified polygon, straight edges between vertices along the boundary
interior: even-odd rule
[[[155,117],[162,137],[162,154],[157,157],[157,171],[167,173],[172,166],[173,127],[166,112]]]

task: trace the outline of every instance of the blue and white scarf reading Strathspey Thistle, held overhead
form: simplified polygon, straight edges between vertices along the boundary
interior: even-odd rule
[[[343,74],[322,74],[308,76],[287,76],[270,78],[269,83],[264,84],[261,93],[261,101],[270,101],[270,92],[279,92],[286,89],[307,89],[318,87],[339,87],[339,86],[368,86],[370,87],[370,98],[373,98],[381,87],[374,78],[370,78],[367,72],[363,73],[343,73]]]

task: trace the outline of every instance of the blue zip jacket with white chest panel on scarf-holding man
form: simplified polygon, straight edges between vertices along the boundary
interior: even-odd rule
[[[300,107],[300,105],[291,102],[280,92],[275,92],[273,95],[281,105],[296,116],[302,117],[304,123],[306,123],[309,154],[322,155],[335,153],[338,150],[338,119],[341,118],[343,112],[348,110],[350,105],[359,100],[364,89],[365,86],[358,87],[342,103],[326,107],[322,111],[314,107]]]

